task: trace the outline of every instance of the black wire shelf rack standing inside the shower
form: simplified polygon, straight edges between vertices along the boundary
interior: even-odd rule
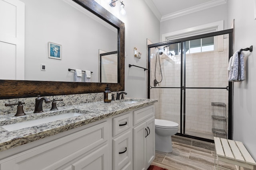
[[[227,137],[226,104],[212,102],[212,133]]]

